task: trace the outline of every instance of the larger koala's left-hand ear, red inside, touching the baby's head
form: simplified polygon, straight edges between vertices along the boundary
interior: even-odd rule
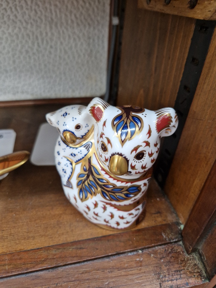
[[[103,119],[104,111],[109,106],[110,105],[107,102],[96,97],[92,99],[86,110],[89,111],[90,115],[96,120],[96,122],[100,122],[101,119]]]

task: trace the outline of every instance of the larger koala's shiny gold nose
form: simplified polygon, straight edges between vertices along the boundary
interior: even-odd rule
[[[109,161],[109,171],[116,176],[124,175],[128,172],[128,163],[120,155],[114,155]]]

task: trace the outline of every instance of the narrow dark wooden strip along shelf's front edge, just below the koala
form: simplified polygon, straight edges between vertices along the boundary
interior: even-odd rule
[[[0,278],[146,249],[181,239],[179,223],[173,222],[39,249],[1,254]]]

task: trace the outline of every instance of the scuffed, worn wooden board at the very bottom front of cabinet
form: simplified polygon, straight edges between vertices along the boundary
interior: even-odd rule
[[[0,280],[0,287],[194,287],[208,282],[181,243]]]

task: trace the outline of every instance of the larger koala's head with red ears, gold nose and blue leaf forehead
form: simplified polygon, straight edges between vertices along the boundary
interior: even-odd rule
[[[175,132],[178,125],[175,110],[102,106],[99,102],[96,99],[90,109],[97,123],[94,140],[98,158],[113,175],[124,179],[140,177],[154,164],[161,137]]]

